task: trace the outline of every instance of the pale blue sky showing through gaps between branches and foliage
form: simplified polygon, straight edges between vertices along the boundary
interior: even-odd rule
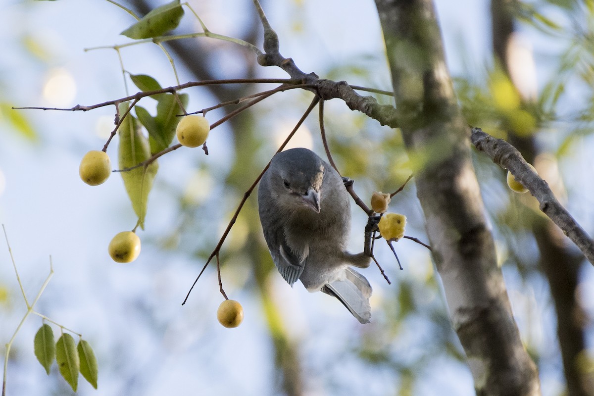
[[[243,3],[232,0],[191,2],[197,10],[204,8],[201,17],[212,31],[229,36],[233,36],[233,29],[245,13],[252,12]],[[305,1],[299,12],[295,11],[298,8],[293,2],[267,3],[270,5],[265,5],[265,10],[279,33],[281,52],[295,59],[304,71],[324,71],[361,55],[384,58],[381,31],[371,0]],[[461,74],[466,64],[470,69],[476,68],[479,78],[484,66],[491,62],[488,2],[438,0],[436,4],[452,74]],[[221,13],[224,18],[220,17]],[[331,15],[331,23],[328,23],[328,15]],[[187,12],[185,18],[189,16]],[[295,34],[295,26],[286,20],[301,22],[302,28],[319,41],[311,40],[308,34]],[[10,100],[17,106],[71,107],[77,103],[93,104],[125,96],[115,52],[84,52],[83,48],[128,42],[118,33],[131,23],[129,15],[106,1],[0,0],[0,81],[3,84],[0,85],[0,100]],[[37,61],[21,49],[20,40],[26,36],[44,47],[48,53],[46,63]],[[526,40],[530,42],[530,37]],[[460,60],[462,48],[466,52],[464,62]],[[129,71],[153,75],[163,86],[175,85],[169,64],[160,50],[138,46],[122,53]],[[222,71],[236,77],[234,74],[240,71],[233,69],[225,55],[221,57],[226,60]],[[541,67],[538,57],[536,59],[539,73],[551,72]],[[377,71],[377,81],[386,85],[377,88],[390,89],[387,66],[382,67]],[[263,71],[264,75],[286,77],[280,70],[272,68]],[[182,83],[189,80],[183,70],[180,80]],[[60,88],[52,90],[52,81],[57,81]],[[203,102],[211,104],[212,101],[208,102],[207,96],[192,96],[191,103]],[[100,150],[103,146],[105,137],[101,131],[105,126],[102,129],[101,125],[112,122],[113,108],[84,113],[27,110],[24,115],[36,127],[40,142],[31,144],[7,131],[5,124],[0,124],[0,223],[7,228],[21,281],[30,300],[49,272],[49,255],[52,255],[55,274],[36,307],[37,311],[81,332],[96,351],[100,362],[99,389],[95,391],[80,378],[78,394],[271,394],[273,360],[260,302],[242,293],[241,289],[247,274],[229,277],[232,280],[226,282],[230,297],[239,300],[245,310],[245,321],[235,330],[227,330],[216,321],[216,308],[222,297],[218,292],[214,266],[203,275],[188,305],[181,306],[199,269],[195,263],[191,265],[188,252],[192,249],[188,247],[172,253],[161,251],[150,243],[158,241],[163,231],[172,229],[172,217],[177,214],[173,195],[163,188],[151,192],[147,230],[140,232],[143,239],[140,258],[129,265],[117,265],[110,260],[107,254],[109,240],[115,233],[131,229],[135,216],[118,175],[112,175],[104,185],[91,188],[78,178],[78,164],[84,153]],[[271,123],[284,125],[294,123],[299,115],[295,119],[290,115],[273,116],[277,118]],[[217,128],[216,133],[213,131],[209,139],[212,154],[208,159],[201,156],[201,151],[185,149],[164,157],[157,179],[162,178],[162,185],[172,183],[184,190],[188,182],[197,177],[194,170],[201,161],[213,161],[225,169],[229,165],[225,133],[225,128]],[[591,144],[592,141],[586,138],[584,147],[592,147]],[[108,150],[112,159],[116,158],[115,148],[113,145]],[[587,148],[583,148],[576,154],[582,169],[592,169],[592,159],[587,153]],[[570,189],[584,180],[583,173],[569,173],[573,175],[567,180]],[[208,178],[200,180],[209,182]],[[592,187],[591,183],[589,187]],[[591,198],[587,194],[575,197],[570,209],[592,233]],[[206,201],[208,196],[198,194],[195,199]],[[230,202],[228,210],[234,210],[236,203]],[[419,218],[413,214],[410,227],[426,240]],[[355,221],[364,221],[361,219],[360,215],[354,217]],[[215,243],[220,236],[217,231],[220,227],[213,224]],[[431,265],[425,264],[427,254],[424,249],[406,241],[399,245],[399,249],[407,271],[390,268],[393,281],[401,276],[422,277],[432,270]],[[420,264],[414,265],[415,262]],[[589,270],[584,275],[587,284],[592,286],[592,268]],[[534,308],[542,290],[523,293],[519,290],[522,285],[513,273],[506,273],[506,280],[514,311],[528,312]],[[371,283],[375,295],[381,298],[388,286],[375,273]],[[20,321],[24,304],[19,299],[10,256],[3,242],[0,242],[0,287],[8,288],[11,293],[8,302],[0,302],[0,343],[4,344]],[[307,293],[301,285],[290,289],[280,277],[272,281],[271,287],[286,307],[284,313],[293,337],[304,340],[302,353],[308,358],[305,368],[308,375],[317,378],[320,370],[327,370],[326,375],[342,372],[337,378],[342,376],[345,381],[350,381],[347,385],[353,395],[394,392],[396,385],[390,384],[388,373],[385,381],[370,384],[365,381],[365,372],[358,371],[361,368],[340,366],[339,351],[345,338],[346,341],[349,337],[355,340],[359,331],[359,324],[353,322],[346,310],[329,299],[320,300],[317,298],[320,296]],[[442,299],[442,296],[437,294],[428,298]],[[594,297],[590,301],[594,301]],[[590,312],[594,310],[593,306],[587,308]],[[548,329],[546,332],[554,332],[551,322],[554,318],[549,308],[536,306],[536,312],[530,312],[530,315],[541,317],[543,326]],[[381,316],[382,313],[374,312],[374,315]],[[318,322],[326,324],[324,331],[312,334],[311,330],[315,328],[312,324]],[[8,367],[8,396],[51,394],[53,384],[58,384],[55,385],[60,389],[58,393],[71,392],[56,376],[55,365],[48,377],[34,358],[32,340],[40,325],[40,318],[31,316],[17,335],[13,348],[18,359],[12,360]],[[522,322],[520,328],[523,329]],[[53,330],[58,331],[56,327]],[[407,337],[415,340],[416,331],[418,329],[411,328],[405,332],[399,348],[406,350]],[[533,335],[539,334],[538,330],[530,331]],[[541,337],[541,344],[556,342],[547,338],[550,334],[541,334]],[[558,353],[556,350],[552,347],[551,353]],[[4,349],[1,351],[4,356]],[[337,359],[330,367],[318,367],[320,363],[315,360],[318,354],[330,360],[336,354]],[[432,363],[424,373],[426,381],[415,389],[415,395],[472,395],[472,378],[466,366],[447,363],[439,360]],[[544,367],[541,375],[544,376],[544,395],[558,394],[562,379],[560,367]],[[309,394],[325,393],[323,388],[315,388],[320,382],[321,379],[312,381],[314,389],[310,389]]]

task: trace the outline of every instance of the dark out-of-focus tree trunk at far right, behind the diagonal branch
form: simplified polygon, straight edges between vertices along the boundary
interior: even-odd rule
[[[495,59],[504,71],[510,74],[507,57],[510,37],[514,33],[514,18],[511,0],[491,0],[492,43]],[[538,148],[533,135],[518,137],[508,131],[510,142],[529,162],[534,163]],[[559,195],[558,191],[554,191]],[[580,353],[586,348],[582,318],[585,313],[577,301],[576,290],[579,284],[579,269],[583,258],[576,255],[563,243],[561,230],[550,221],[538,217],[532,222],[532,232],[538,243],[540,267],[549,283],[551,297],[557,313],[557,335],[561,348],[561,358],[568,396],[594,395],[592,375],[579,370],[576,364]]]

